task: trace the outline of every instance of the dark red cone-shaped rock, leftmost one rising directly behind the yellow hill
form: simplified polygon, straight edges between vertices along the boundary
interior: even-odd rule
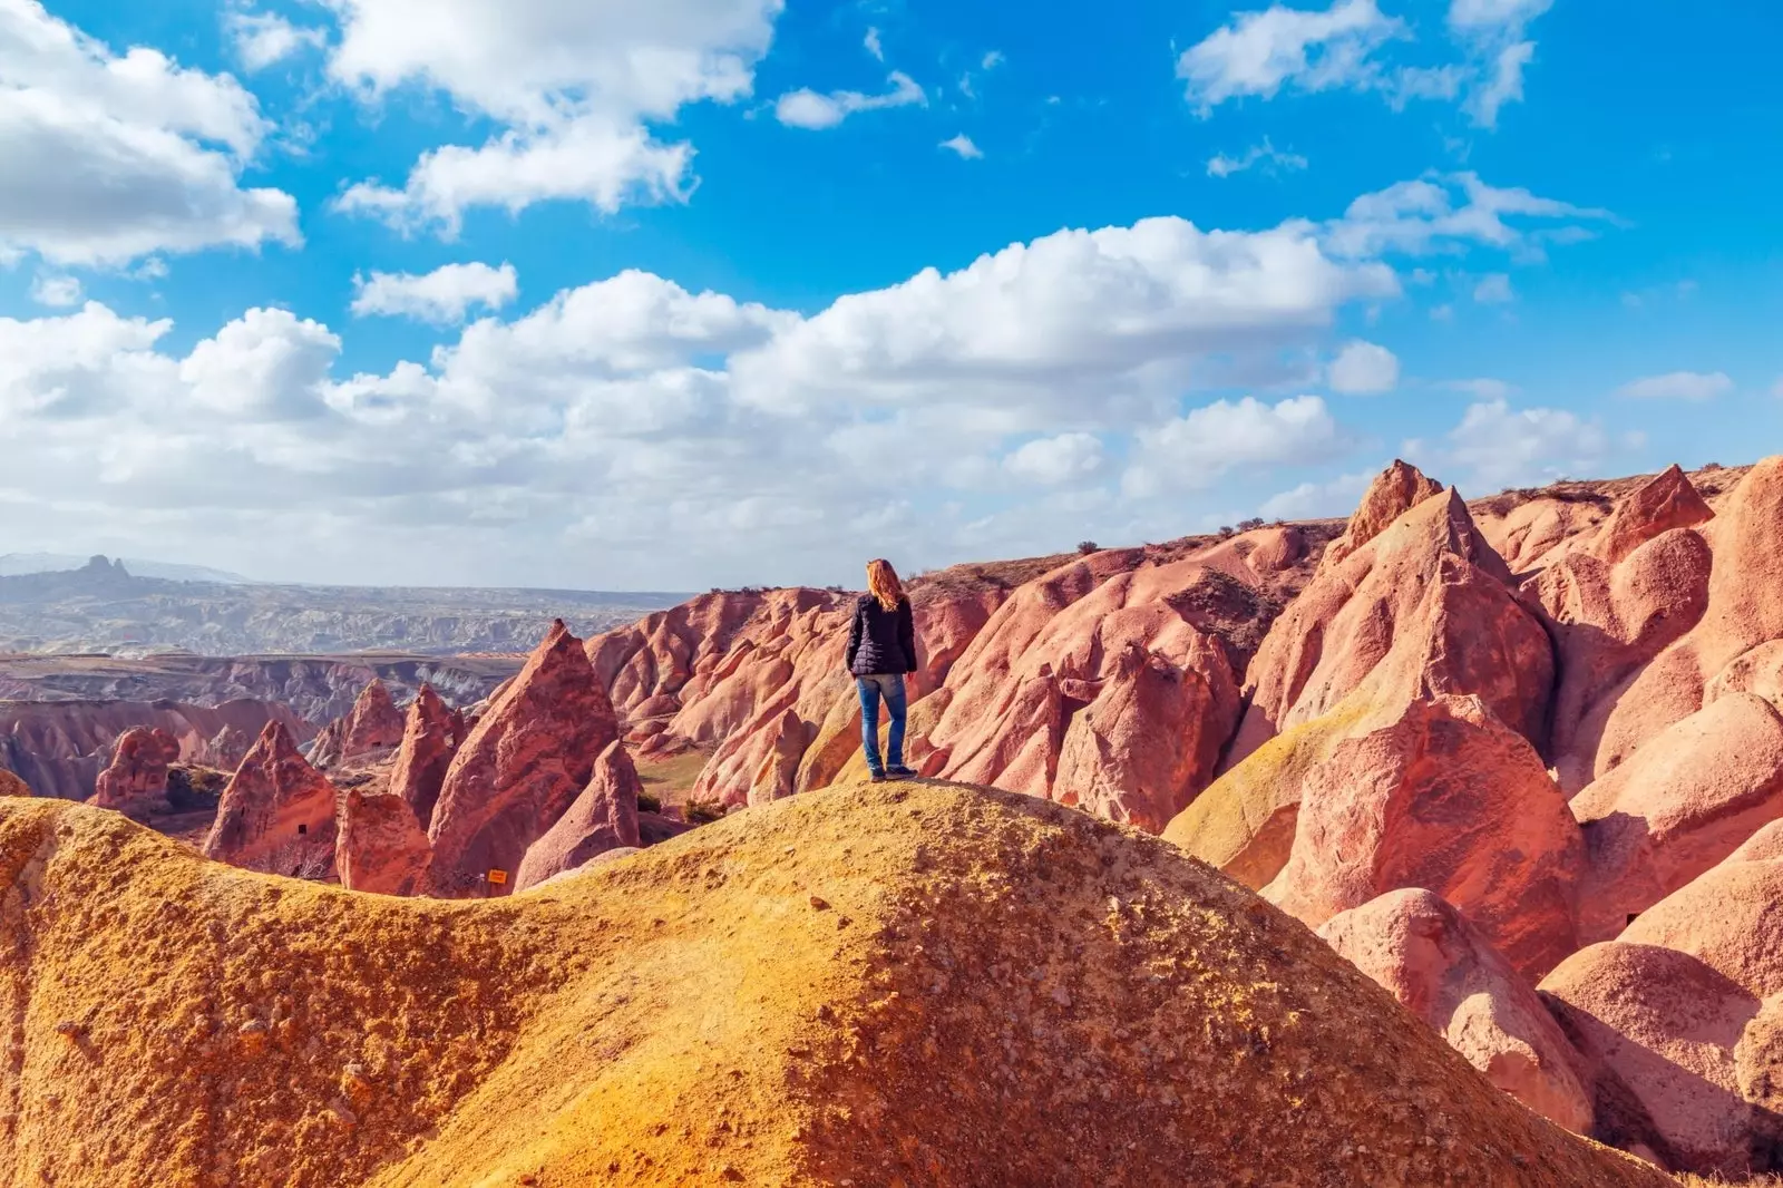
[[[267,722],[223,788],[205,856],[267,874],[323,878],[333,867],[335,797],[291,731]]]

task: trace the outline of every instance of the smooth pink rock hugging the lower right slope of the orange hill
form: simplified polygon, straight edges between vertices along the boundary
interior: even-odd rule
[[[1578,1054],[1535,990],[1451,904],[1423,888],[1334,915],[1319,936],[1535,1113],[1590,1133]]]

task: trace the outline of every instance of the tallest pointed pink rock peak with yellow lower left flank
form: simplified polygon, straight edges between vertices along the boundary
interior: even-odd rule
[[[1389,471],[1376,487],[1401,482]],[[1553,653],[1503,560],[1448,491],[1323,569],[1269,628],[1248,672],[1225,774],[1164,837],[1262,887],[1287,862],[1307,778],[1339,744],[1391,728],[1414,701],[1437,696],[1476,696],[1494,719],[1539,740]]]

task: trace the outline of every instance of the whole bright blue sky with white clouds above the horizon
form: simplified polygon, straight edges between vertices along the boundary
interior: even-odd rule
[[[1733,466],[1783,9],[0,0],[0,553],[859,583]],[[1767,82],[1769,78],[1769,82]]]

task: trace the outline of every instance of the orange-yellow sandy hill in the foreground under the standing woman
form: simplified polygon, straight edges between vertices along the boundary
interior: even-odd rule
[[[0,801],[0,1184],[1653,1184],[1038,799],[838,787],[524,895]]]

